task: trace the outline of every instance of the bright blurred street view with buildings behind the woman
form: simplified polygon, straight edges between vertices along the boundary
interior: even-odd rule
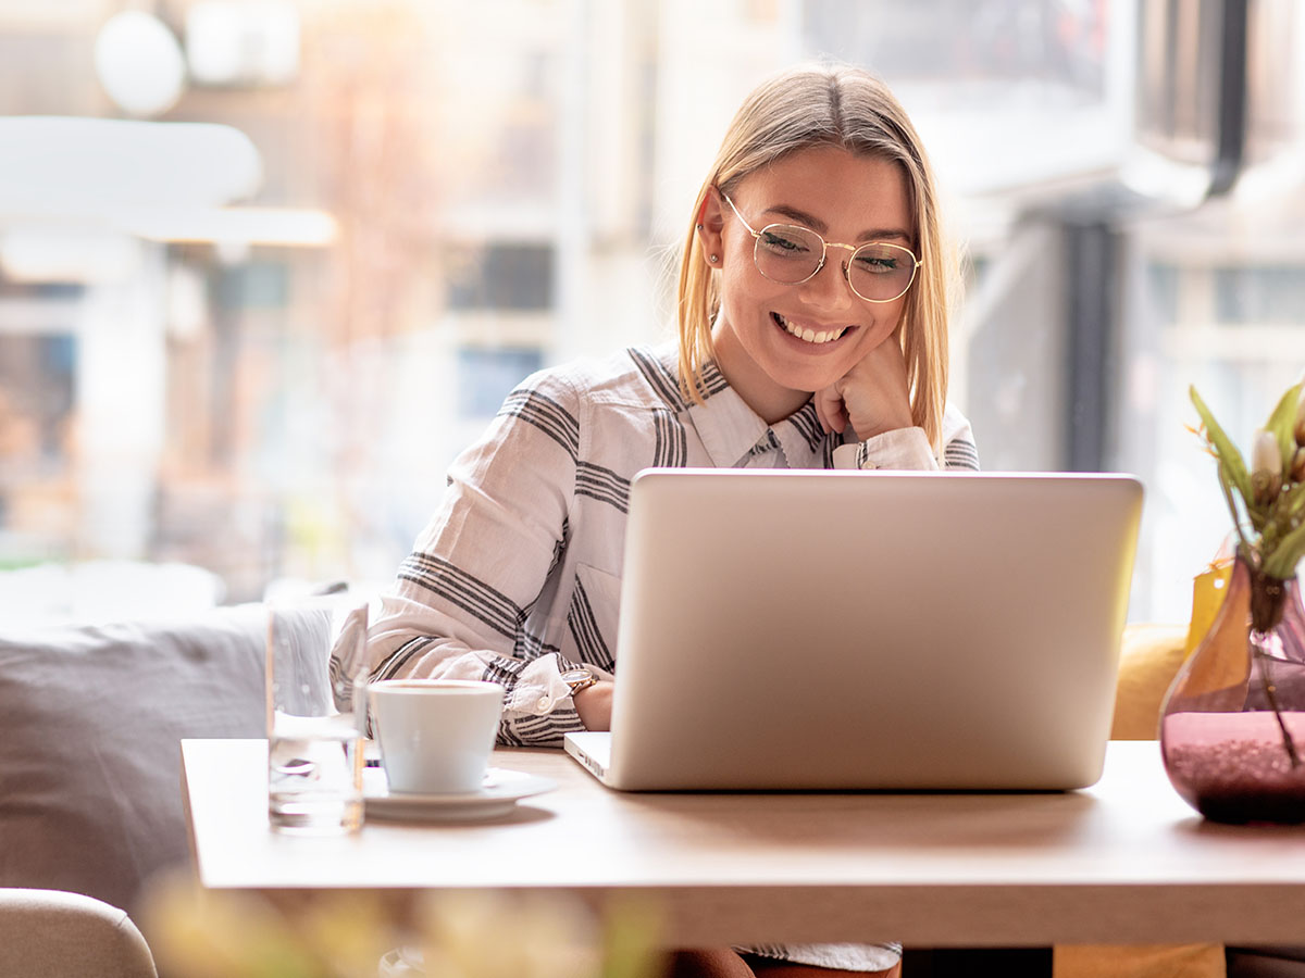
[[[940,172],[984,467],[1137,472],[1130,617],[1185,619],[1188,385],[1245,445],[1305,368],[1302,51],[1293,0],[0,0],[0,569],[388,579],[519,379],[671,335],[731,115],[830,56]]]

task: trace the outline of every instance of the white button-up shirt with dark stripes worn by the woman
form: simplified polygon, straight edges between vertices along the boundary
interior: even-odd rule
[[[561,673],[616,669],[630,480],[651,466],[937,468],[924,432],[865,442],[825,434],[808,402],[767,425],[709,364],[688,402],[673,344],[543,370],[513,391],[449,486],[368,643],[372,678],[491,679],[505,689],[500,742],[559,746],[583,726]],[[950,406],[942,464],[977,468]]]

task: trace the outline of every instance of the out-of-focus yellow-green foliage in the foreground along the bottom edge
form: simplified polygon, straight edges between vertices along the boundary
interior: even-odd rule
[[[568,893],[322,891],[286,900],[157,883],[142,931],[170,978],[659,978],[660,915],[613,901],[602,915]],[[402,923],[401,918],[408,922]],[[412,969],[412,970],[408,970]],[[420,970],[416,970],[420,969]]]

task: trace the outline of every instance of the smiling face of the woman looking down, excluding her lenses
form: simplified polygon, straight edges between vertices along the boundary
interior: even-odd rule
[[[911,248],[915,241],[899,167],[837,146],[801,150],[749,173],[729,200],[756,231],[782,223],[853,246]],[[767,421],[791,415],[897,329],[906,296],[868,303],[856,295],[843,273],[851,252],[830,248],[814,276],[790,286],[757,270],[756,239],[718,192],[709,196],[702,223],[705,253],[719,256],[713,263],[719,269],[718,365]]]

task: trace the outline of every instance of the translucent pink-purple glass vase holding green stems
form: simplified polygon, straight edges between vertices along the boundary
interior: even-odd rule
[[[1305,822],[1305,609],[1295,578],[1240,557],[1214,625],[1174,677],[1164,769],[1214,822]]]

